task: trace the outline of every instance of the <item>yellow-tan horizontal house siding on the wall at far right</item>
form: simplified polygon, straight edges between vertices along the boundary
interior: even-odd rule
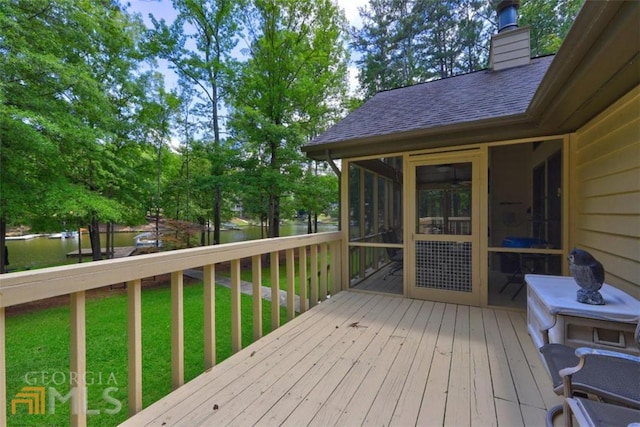
[[[640,299],[640,86],[572,137],[572,246]]]

